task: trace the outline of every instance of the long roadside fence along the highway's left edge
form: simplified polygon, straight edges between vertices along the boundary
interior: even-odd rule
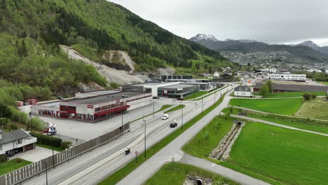
[[[116,137],[122,135],[123,132],[128,132],[128,131],[130,131],[130,123],[125,123],[125,125],[123,125],[123,131],[121,127],[116,128],[116,130],[113,130],[105,135],[96,137],[95,139],[91,139],[90,141],[84,142],[83,144],[79,144],[77,146],[71,147],[70,149],[57,153],[54,156],[50,156],[36,163],[32,163],[30,165],[22,167],[8,174],[4,174],[0,177],[0,184],[4,184],[4,185],[20,184],[22,181],[25,181],[26,179],[29,179],[42,172],[45,172],[46,165],[48,169],[60,165],[61,163],[64,163],[67,160],[70,160],[71,158],[79,156],[83,153],[86,153],[91,149],[95,149],[97,146],[105,144],[111,141],[112,139],[115,139]]]

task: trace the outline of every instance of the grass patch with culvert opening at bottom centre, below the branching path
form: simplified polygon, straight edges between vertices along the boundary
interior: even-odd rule
[[[238,184],[235,181],[226,179],[207,170],[203,170],[192,165],[184,165],[180,163],[168,163],[158,170],[145,184],[147,185],[181,185],[186,180],[186,174],[205,177],[213,180],[212,184]]]

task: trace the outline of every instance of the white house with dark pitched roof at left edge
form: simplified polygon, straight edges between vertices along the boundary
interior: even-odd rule
[[[18,129],[11,132],[0,130],[0,155],[6,154],[12,157],[15,153],[35,149],[34,143],[36,137],[32,137],[25,130]]]

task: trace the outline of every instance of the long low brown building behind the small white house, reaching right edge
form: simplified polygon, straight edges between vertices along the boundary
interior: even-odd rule
[[[259,92],[264,83],[257,83],[254,85],[253,91]],[[285,93],[285,92],[326,92],[328,86],[319,85],[289,85],[289,84],[272,84],[273,93]]]

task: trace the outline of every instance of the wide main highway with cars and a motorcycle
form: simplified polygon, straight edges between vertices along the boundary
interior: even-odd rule
[[[217,100],[219,100],[219,97],[217,97]],[[186,104],[184,108],[184,123],[201,112],[200,102],[198,101],[196,106],[195,102],[184,102]],[[213,102],[213,96],[204,98],[203,109],[212,106]],[[167,121],[161,121],[162,115],[163,112],[159,112],[154,117],[151,115],[145,118],[147,148],[156,144],[156,142],[174,130],[180,129],[179,127],[170,128],[169,124],[176,120],[178,125],[181,125],[181,111],[170,113],[170,118]],[[124,154],[126,147],[131,149],[131,153],[128,156]],[[144,122],[142,120],[132,123],[131,132],[114,142],[110,142],[94,151],[83,154],[81,157],[69,160],[69,163],[64,163],[55,169],[49,170],[48,182],[49,184],[96,184],[104,177],[107,177],[108,174],[115,172],[118,167],[133,160],[135,151],[139,151],[139,153],[144,151]],[[45,176],[45,174],[41,174],[40,177],[34,177],[23,184],[44,184]]]

